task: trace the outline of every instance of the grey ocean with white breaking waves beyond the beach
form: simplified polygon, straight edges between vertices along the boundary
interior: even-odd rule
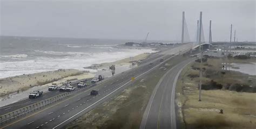
[[[0,78],[112,62],[150,49],[113,48],[130,40],[0,37]]]

